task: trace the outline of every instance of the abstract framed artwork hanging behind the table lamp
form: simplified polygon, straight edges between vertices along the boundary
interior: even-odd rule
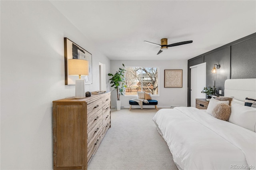
[[[75,85],[78,75],[68,75],[69,59],[84,59],[89,62],[89,75],[81,75],[84,84],[92,84],[92,54],[72,42],[68,38],[64,38],[64,59],[65,59],[65,85]]]

